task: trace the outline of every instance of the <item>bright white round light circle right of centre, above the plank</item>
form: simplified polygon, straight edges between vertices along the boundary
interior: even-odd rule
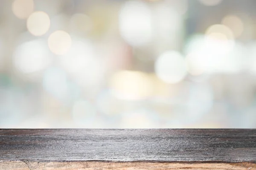
[[[186,76],[186,64],[178,51],[166,51],[154,65],[157,77],[167,83],[180,82]]]

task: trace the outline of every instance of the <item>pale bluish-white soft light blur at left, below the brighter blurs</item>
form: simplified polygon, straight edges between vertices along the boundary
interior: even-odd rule
[[[58,99],[67,96],[68,84],[65,72],[59,68],[49,68],[44,72],[43,87],[45,91]]]

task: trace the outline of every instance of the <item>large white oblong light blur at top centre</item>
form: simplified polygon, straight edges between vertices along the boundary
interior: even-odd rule
[[[151,11],[142,1],[126,1],[119,13],[119,31],[132,46],[141,46],[151,40]]]

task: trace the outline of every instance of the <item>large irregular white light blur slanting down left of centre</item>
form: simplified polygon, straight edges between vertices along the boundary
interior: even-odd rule
[[[104,76],[104,63],[97,57],[93,43],[89,40],[75,39],[60,63],[76,82],[83,87],[96,87]]]

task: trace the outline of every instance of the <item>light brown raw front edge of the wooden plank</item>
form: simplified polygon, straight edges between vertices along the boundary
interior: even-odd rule
[[[0,161],[0,170],[256,170],[252,163]]]

